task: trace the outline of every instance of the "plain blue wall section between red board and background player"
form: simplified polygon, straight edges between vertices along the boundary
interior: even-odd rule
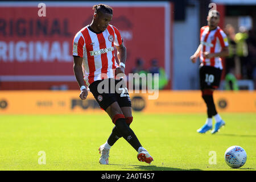
[[[199,13],[199,2],[193,1],[193,6],[185,7],[184,21],[174,22],[173,90],[200,89],[199,60],[195,64],[190,60],[200,44]]]

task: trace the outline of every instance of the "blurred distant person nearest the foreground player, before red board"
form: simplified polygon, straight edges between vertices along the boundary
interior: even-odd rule
[[[133,74],[138,73],[139,74],[139,80],[133,80],[133,89],[146,89],[147,86],[147,71],[144,69],[144,60],[141,58],[138,58],[136,60],[135,67],[131,70]]]

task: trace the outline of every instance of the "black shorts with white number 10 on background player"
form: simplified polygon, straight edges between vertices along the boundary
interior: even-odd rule
[[[200,89],[217,89],[220,86],[222,69],[203,66],[199,69]]]

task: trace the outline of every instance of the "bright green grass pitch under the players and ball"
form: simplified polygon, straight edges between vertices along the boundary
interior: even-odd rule
[[[137,152],[123,138],[110,150],[110,165],[98,163],[98,147],[106,142],[114,126],[103,112],[0,115],[0,170],[255,171],[255,113],[221,113],[226,126],[214,135],[196,132],[205,122],[203,113],[133,116],[131,128],[154,158],[150,165],[139,162]],[[238,169],[224,161],[226,149],[234,145],[247,153],[245,165]]]

